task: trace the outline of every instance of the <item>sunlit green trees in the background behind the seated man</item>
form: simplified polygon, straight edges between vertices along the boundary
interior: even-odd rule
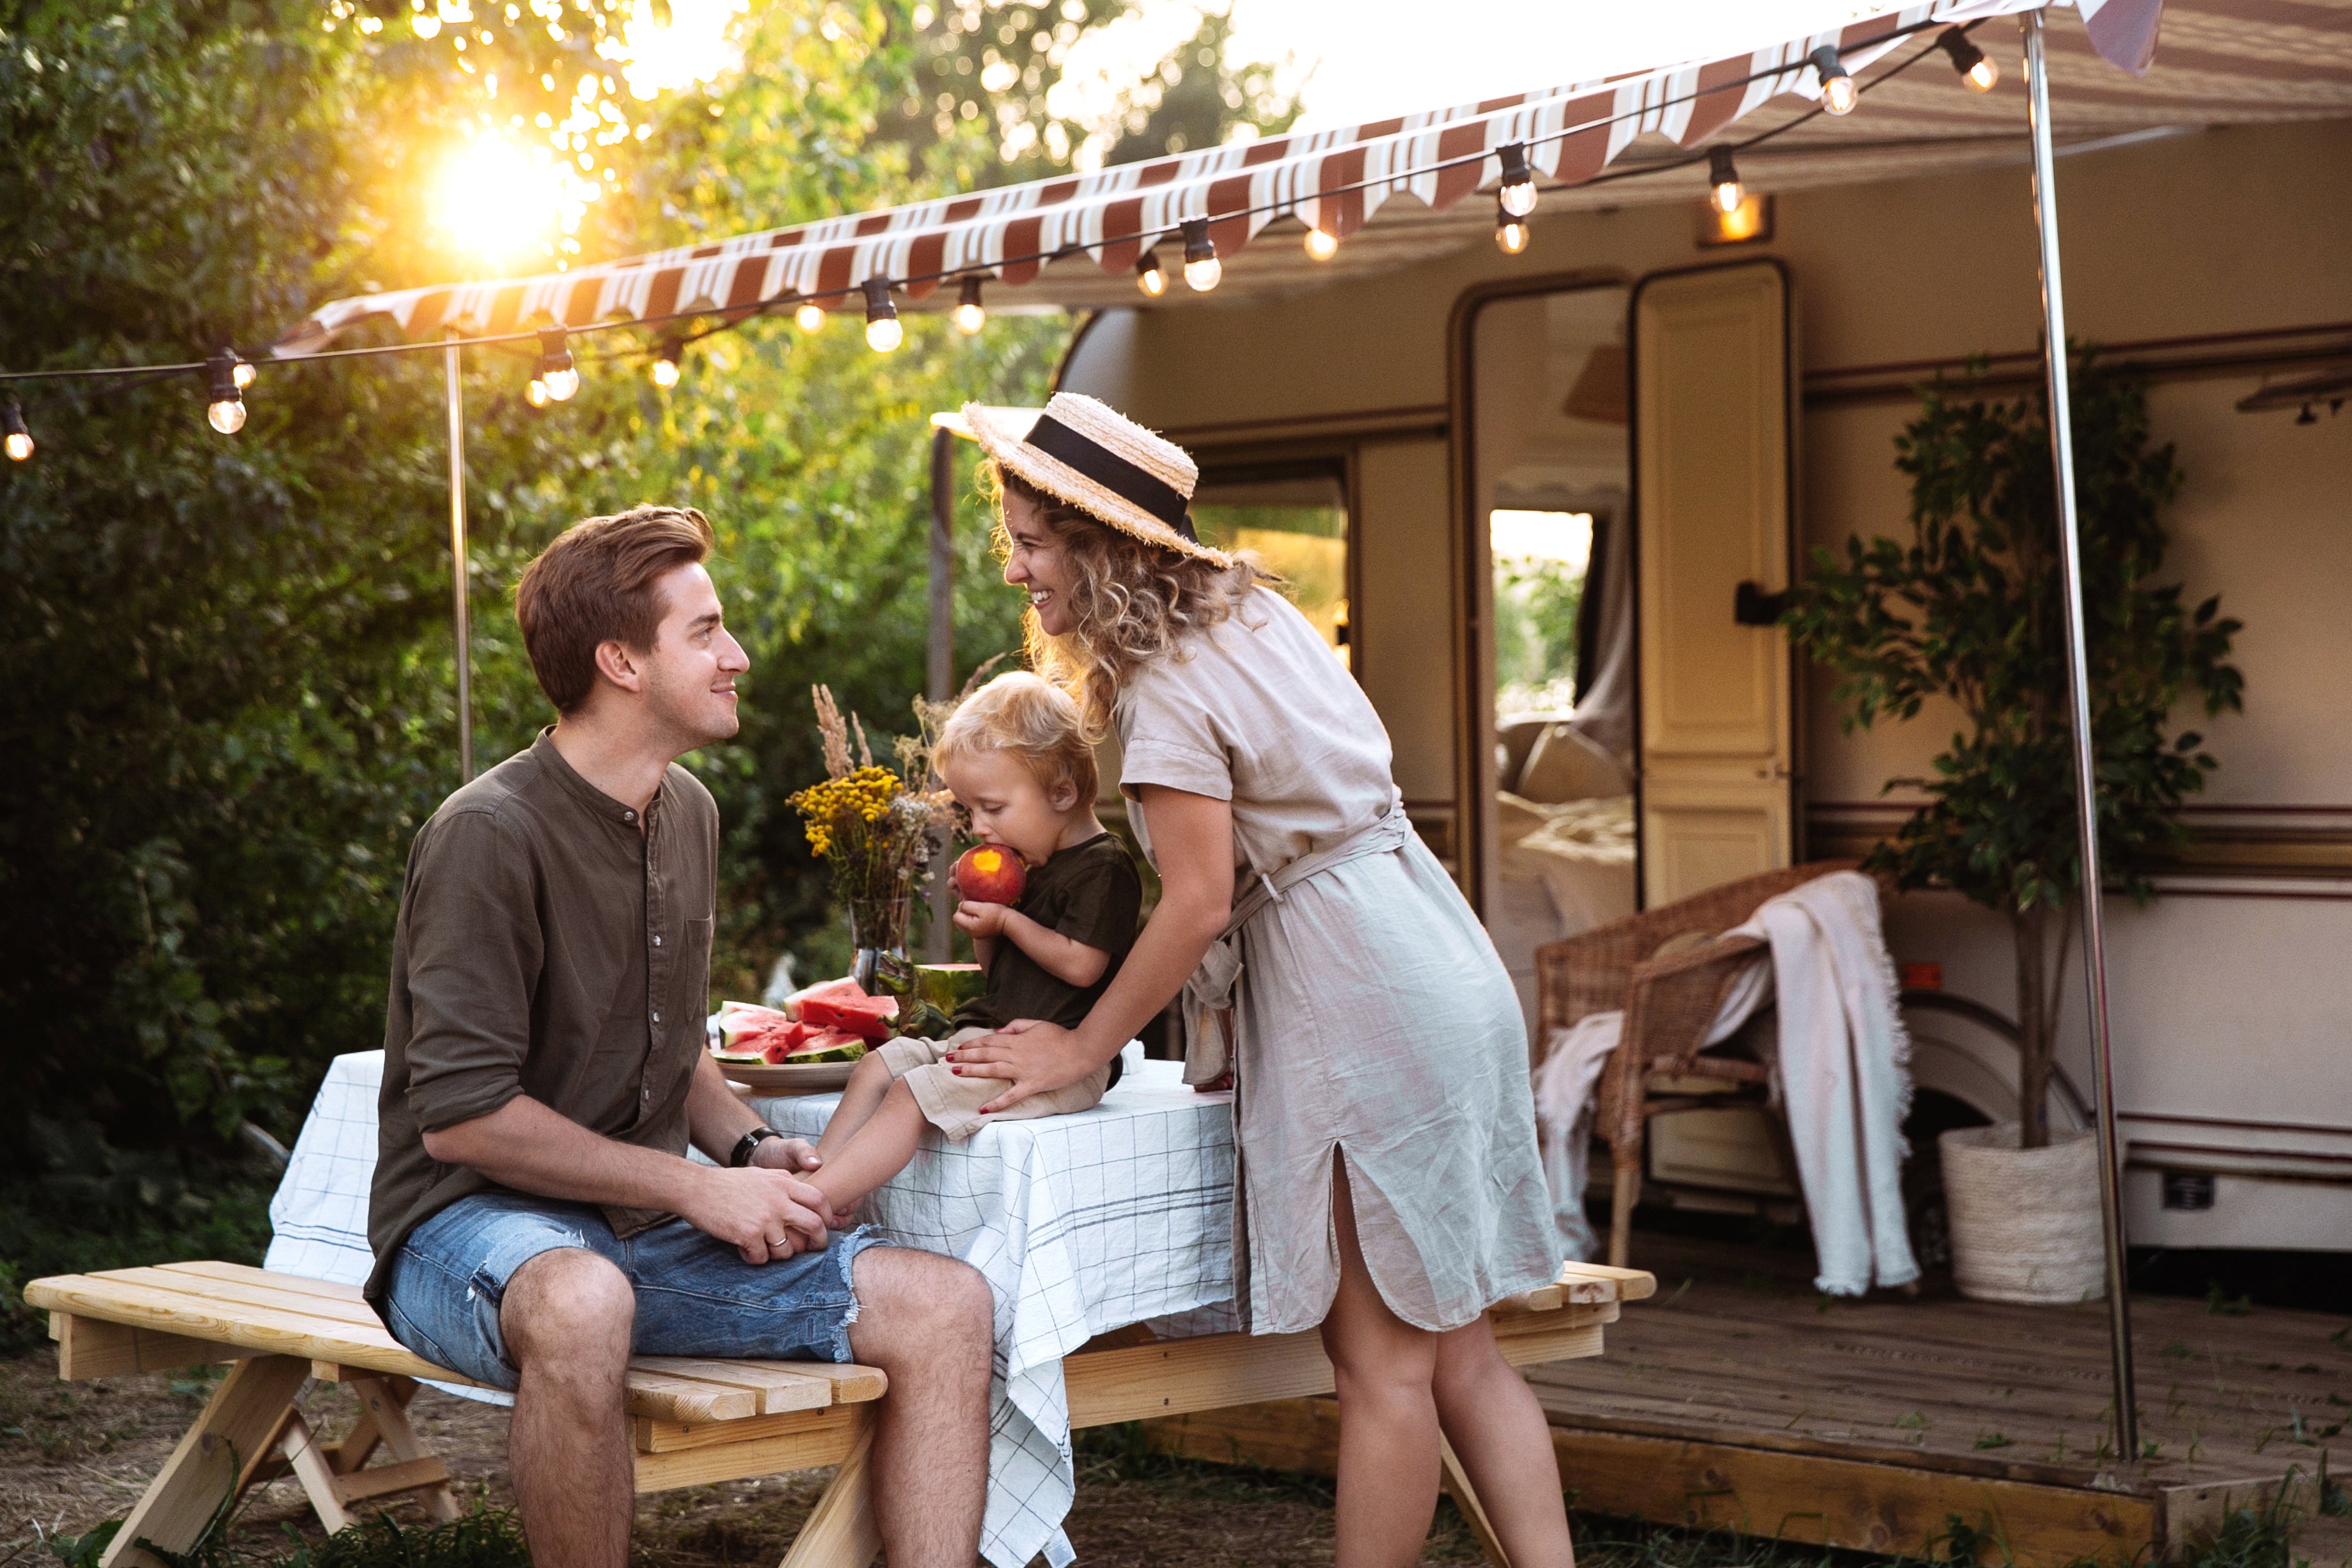
[[[0,364],[252,350],[325,299],[485,270],[428,197],[466,134],[520,134],[543,103],[562,120],[597,68],[609,19],[567,5],[557,40],[543,5],[517,26],[477,7],[463,54],[456,28],[416,38],[407,7],[379,5],[388,26],[365,31],[350,0],[0,5]],[[1117,9],[1089,5],[1082,26]],[[581,256],[995,179],[993,143],[955,141],[960,110],[948,150],[889,120],[927,59],[927,9],[762,5],[741,71],[649,103],[623,89],[630,134],[590,141],[614,179]],[[990,47],[957,28],[974,75]],[[1033,63],[974,120],[1042,103]],[[1054,315],[1000,313],[976,339],[910,317],[882,357],[849,322],[753,322],[656,393],[647,346],[614,334],[579,341],[583,388],[546,411],[522,400],[527,360],[466,355],[480,766],[553,717],[510,614],[529,555],[647,498],[701,505],[720,531],[753,672],[743,733],[689,759],[727,830],[715,992],[753,992],[779,952],[842,961],[783,809],[818,773],[807,686],[830,682],[877,731],[908,726],[924,416],[1040,400],[1065,341]],[[245,1119],[289,1138],[327,1058],[381,1041],[407,846],[459,783],[440,357],[266,364],[238,437],[205,428],[191,376],[24,400],[40,451],[0,465],[0,1171],[35,1175],[31,1114],[87,1117],[132,1157],[219,1147]],[[1018,639],[995,574],[967,503],[960,672]]]

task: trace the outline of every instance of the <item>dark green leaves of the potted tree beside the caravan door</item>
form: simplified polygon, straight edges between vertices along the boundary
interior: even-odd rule
[[[2180,802],[2218,764],[2204,736],[2166,736],[2176,705],[2239,708],[2227,663],[2239,623],[2190,607],[2164,564],[2161,508],[2180,491],[2152,447],[2145,386],[2077,355],[2074,480],[2084,552],[2100,853],[2136,896],[2176,849]],[[2042,400],[1987,402],[1938,381],[1896,440],[1912,480],[1912,541],[1813,552],[1785,625],[1837,672],[1842,724],[1912,719],[1929,698],[1966,729],[1929,778],[1929,804],[1877,853],[1903,886],[1945,882],[1992,910],[2063,907],[2082,886],[2067,729],[2065,609]]]

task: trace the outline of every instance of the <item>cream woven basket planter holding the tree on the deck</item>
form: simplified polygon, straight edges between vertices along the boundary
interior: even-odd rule
[[[2049,1147],[2020,1150],[2018,1124],[1994,1121],[1936,1145],[1962,1295],[2056,1307],[2107,1295],[2093,1133],[2053,1128]]]

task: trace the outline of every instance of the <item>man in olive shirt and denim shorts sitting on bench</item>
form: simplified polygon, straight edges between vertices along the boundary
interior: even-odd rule
[[[673,759],[736,733],[748,668],[708,550],[701,512],[640,505],[522,574],[522,644],[560,717],[409,849],[367,1298],[416,1354],[515,1392],[539,1563],[628,1556],[635,1352],[880,1366],[889,1561],[971,1568],[988,1284],[866,1229],[828,1246],[797,1180],[814,1152],[703,1048],[717,809]]]

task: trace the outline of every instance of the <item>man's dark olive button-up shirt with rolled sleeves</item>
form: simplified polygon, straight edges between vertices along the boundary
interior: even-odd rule
[[[412,1229],[506,1192],[423,1135],[532,1095],[590,1133],[687,1152],[703,1053],[720,813],[680,766],[637,811],[548,733],[442,802],[409,846],[383,1018],[367,1241],[381,1312]],[[607,1208],[628,1237],[659,1213]]]

